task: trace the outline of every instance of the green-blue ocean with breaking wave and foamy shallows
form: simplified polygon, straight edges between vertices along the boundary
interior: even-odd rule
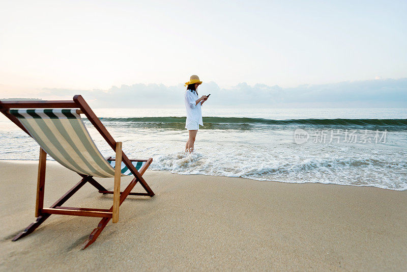
[[[407,108],[203,106],[192,154],[184,153],[184,108],[94,111],[130,158],[153,158],[150,170],[407,189]],[[85,124],[102,154],[113,155]],[[3,115],[0,137],[0,159],[38,159],[36,142]]]

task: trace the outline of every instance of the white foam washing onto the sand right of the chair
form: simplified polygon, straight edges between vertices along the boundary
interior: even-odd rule
[[[407,163],[355,157],[275,158],[252,157],[242,161],[231,152],[227,159],[210,158],[202,153],[177,152],[157,157],[151,170],[166,170],[181,175],[243,177],[261,181],[325,183],[374,186],[403,191],[407,189]],[[388,169],[388,172],[384,172]]]

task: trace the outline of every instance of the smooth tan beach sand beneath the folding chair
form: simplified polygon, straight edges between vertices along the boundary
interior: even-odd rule
[[[34,221],[37,162],[1,161],[0,173],[1,270],[407,269],[407,191],[147,171],[156,195],[129,196],[82,251],[97,218],[51,215],[12,242]],[[47,161],[45,206],[79,179]],[[111,204],[86,184],[64,205]]]

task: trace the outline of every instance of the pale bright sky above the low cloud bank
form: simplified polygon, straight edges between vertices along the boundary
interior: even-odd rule
[[[405,101],[405,14],[407,1],[3,1],[0,98],[178,95],[197,74],[215,92],[398,84]]]

